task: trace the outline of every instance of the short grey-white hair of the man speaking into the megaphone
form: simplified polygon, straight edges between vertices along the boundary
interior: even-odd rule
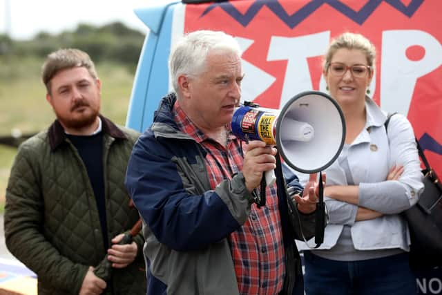
[[[197,30],[184,35],[175,44],[169,57],[169,75],[176,93],[178,93],[178,77],[180,75],[196,77],[203,73],[206,68],[206,57],[213,50],[241,56],[238,41],[221,31]]]

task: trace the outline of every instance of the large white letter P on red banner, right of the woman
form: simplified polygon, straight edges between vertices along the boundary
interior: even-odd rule
[[[410,46],[425,49],[425,56],[412,61],[405,55]],[[420,30],[386,30],[382,35],[381,106],[387,112],[407,115],[416,80],[442,64],[442,46]]]

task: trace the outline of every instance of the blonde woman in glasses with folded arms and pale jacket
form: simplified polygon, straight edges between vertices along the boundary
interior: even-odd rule
[[[410,122],[370,99],[376,50],[346,32],[330,44],[323,73],[343,110],[345,146],[327,172],[329,225],[323,245],[305,251],[307,294],[416,294],[410,236],[400,213],[423,190]]]

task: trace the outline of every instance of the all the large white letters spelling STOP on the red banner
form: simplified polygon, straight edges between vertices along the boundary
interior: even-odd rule
[[[251,39],[236,39],[243,52],[253,44]],[[271,37],[267,60],[287,60],[280,108],[294,95],[313,89],[307,58],[323,56],[329,40],[329,31],[298,37]],[[425,50],[421,60],[414,61],[407,57],[406,50],[411,46],[421,46]],[[382,33],[381,50],[381,106],[387,112],[407,115],[416,80],[441,66],[442,46],[427,32],[386,30]],[[244,59],[242,67],[247,74],[247,79],[242,83],[242,101],[252,101],[276,80]],[[321,75],[319,90],[326,92],[325,86],[325,79]],[[369,88],[371,93],[376,90],[376,74]]]

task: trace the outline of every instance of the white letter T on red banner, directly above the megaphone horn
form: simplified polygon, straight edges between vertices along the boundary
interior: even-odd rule
[[[307,57],[323,55],[329,39],[329,31],[301,37],[271,37],[267,60],[287,59],[280,108],[294,95],[313,90]]]

